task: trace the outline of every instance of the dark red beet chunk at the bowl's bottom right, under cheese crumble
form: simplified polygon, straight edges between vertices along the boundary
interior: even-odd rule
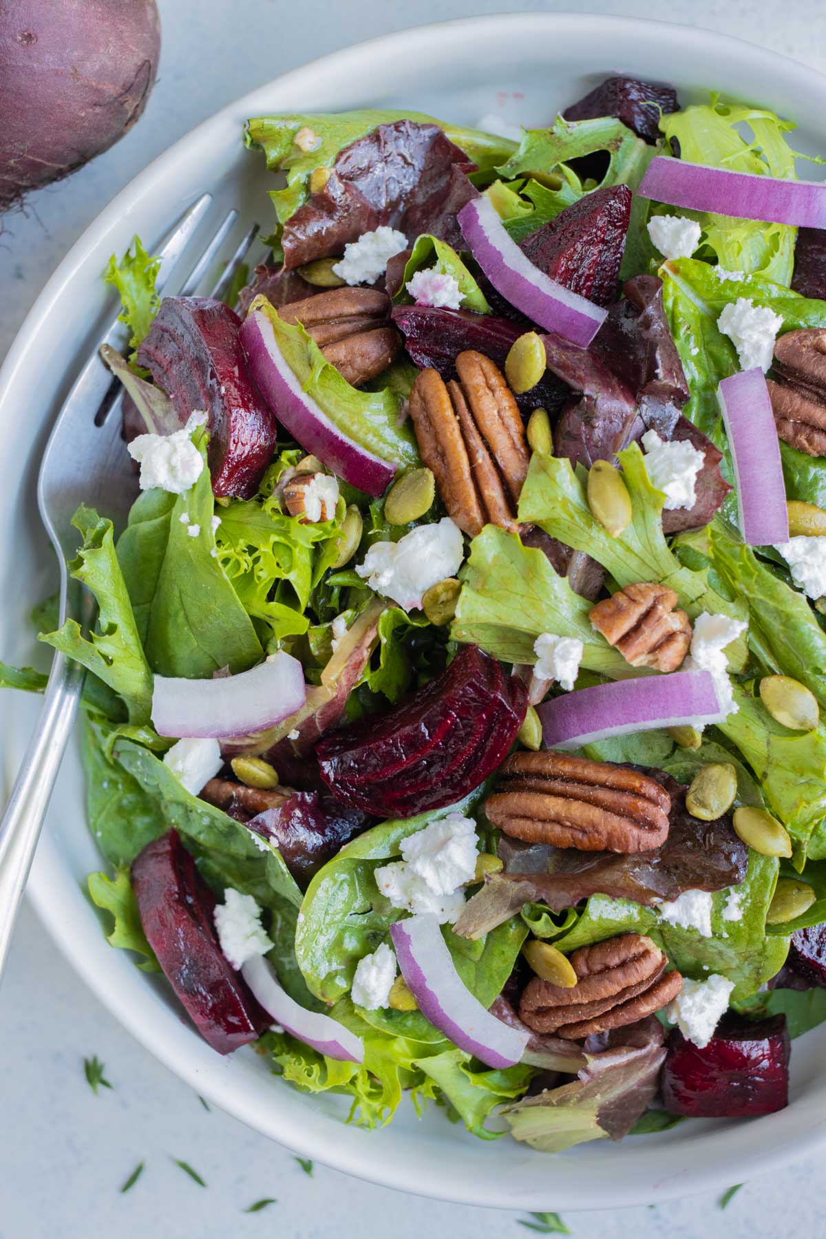
[[[726,1015],[698,1049],[675,1030],[663,1068],[663,1103],[692,1119],[748,1119],[783,1110],[789,1100],[786,1017]]]

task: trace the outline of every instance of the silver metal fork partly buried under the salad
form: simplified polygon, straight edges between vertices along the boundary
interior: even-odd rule
[[[156,287],[161,292],[202,223],[212,201],[204,193],[167,233],[159,253]],[[191,296],[213,265],[229,235],[237,211],[230,211],[204,247],[178,295]],[[253,225],[229,259],[212,296],[223,296],[255,235]],[[115,318],[80,370],[61,409],[43,453],[37,479],[37,506],[61,571],[59,623],[67,617],[89,629],[94,600],[67,571],[79,536],[72,515],[79,503],[123,523],[137,486],[120,435],[123,389],[98,356],[102,344],[126,351],[126,331]],[[80,701],[85,670],[57,652],[46,685],[37,726],[28,741],[11,798],[0,821],[0,979],[31,867],[43,818],[54,787],[72,724]]]

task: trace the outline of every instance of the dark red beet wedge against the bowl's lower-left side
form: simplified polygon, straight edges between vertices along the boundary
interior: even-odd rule
[[[219,1054],[255,1041],[271,1022],[215,935],[215,897],[177,831],[147,844],[131,867],[141,924],[198,1032]]]

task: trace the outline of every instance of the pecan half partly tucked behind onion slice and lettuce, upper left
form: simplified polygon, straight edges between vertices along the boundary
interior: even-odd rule
[[[328,289],[281,306],[279,316],[300,322],[353,387],[385,370],[401,347],[390,326],[390,297],[379,289]]]

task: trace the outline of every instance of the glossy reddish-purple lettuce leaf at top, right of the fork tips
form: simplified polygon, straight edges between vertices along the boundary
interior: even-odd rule
[[[323,190],[284,227],[284,265],[342,254],[383,224],[412,242],[432,233],[461,244],[457,213],[476,197],[466,171],[474,165],[438,125],[396,120],[339,151]]]

